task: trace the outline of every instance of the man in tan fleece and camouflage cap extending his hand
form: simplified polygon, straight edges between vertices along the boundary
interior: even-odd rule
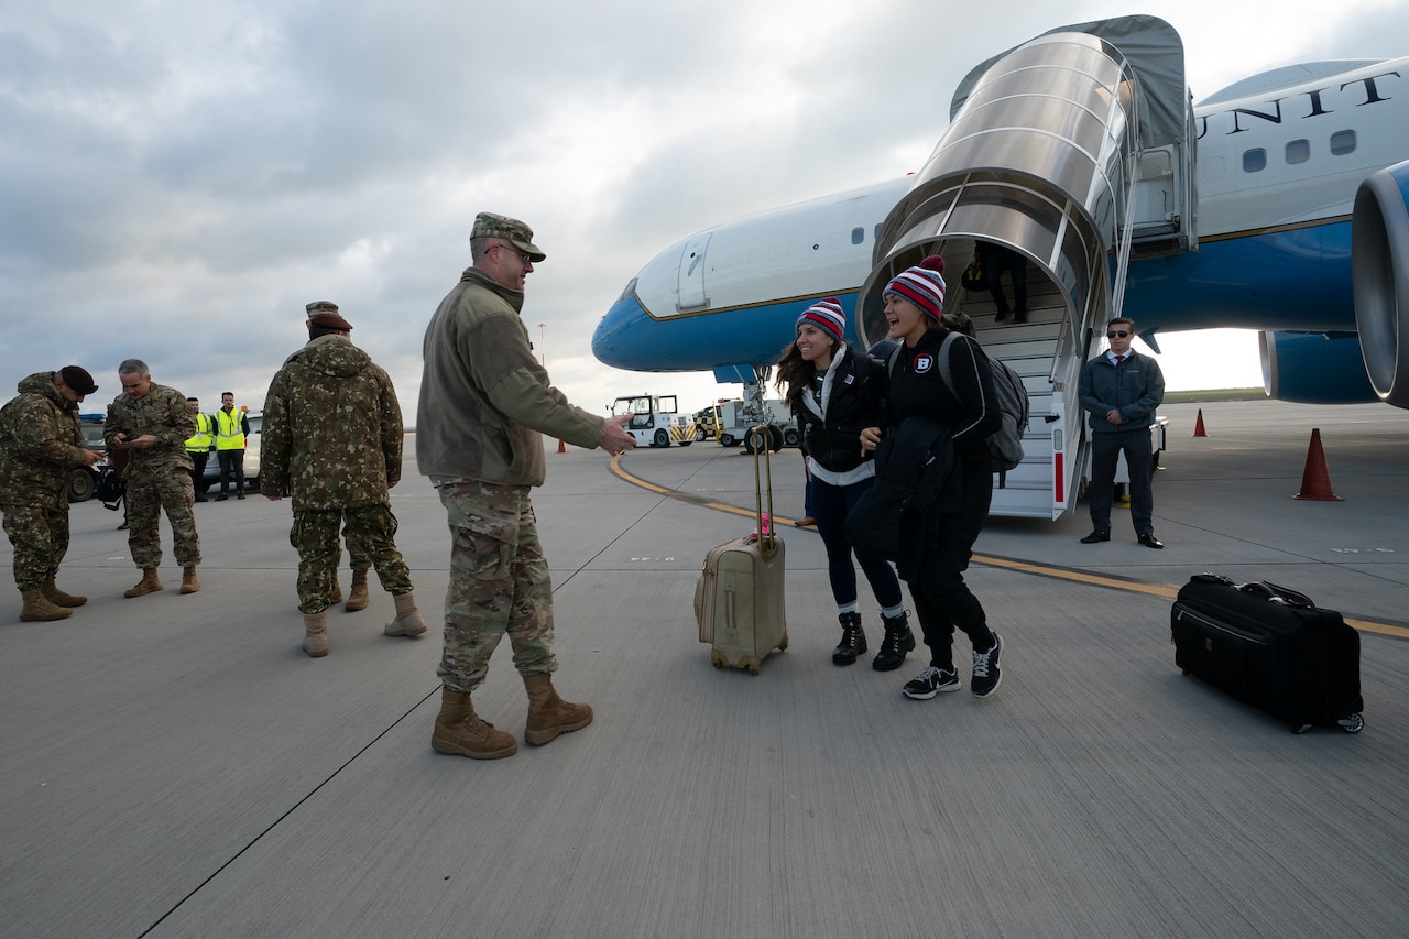
[[[592,722],[592,708],[562,701],[550,678],[558,667],[552,584],[528,498],[547,472],[541,434],[613,454],[635,440],[621,427],[626,417],[609,422],[572,406],[534,357],[520,310],[524,281],[544,254],[528,226],[480,213],[469,251],[473,266],[426,330],[416,458],[440,492],[452,539],[431,747],[492,760],[519,744],[480,719],[469,695],[506,633],[528,692],[524,740],[544,744]]]

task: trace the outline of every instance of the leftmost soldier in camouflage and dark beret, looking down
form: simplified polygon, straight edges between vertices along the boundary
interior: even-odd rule
[[[54,578],[69,550],[69,478],[75,467],[99,458],[79,430],[79,403],[97,385],[87,371],[68,365],[30,375],[18,391],[0,409],[0,512],[24,598],[20,619],[63,619],[87,602],[61,591]]]

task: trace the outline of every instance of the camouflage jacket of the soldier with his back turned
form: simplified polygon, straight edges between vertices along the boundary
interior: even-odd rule
[[[345,336],[290,355],[265,396],[259,492],[297,509],[389,502],[402,479],[402,407],[392,378]]]

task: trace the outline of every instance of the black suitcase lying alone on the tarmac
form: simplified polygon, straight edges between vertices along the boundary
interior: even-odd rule
[[[1293,733],[1365,726],[1360,633],[1303,594],[1199,574],[1179,588],[1169,630],[1184,674],[1281,718]]]

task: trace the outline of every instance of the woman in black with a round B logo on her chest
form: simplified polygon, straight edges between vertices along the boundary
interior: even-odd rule
[[[889,427],[898,429],[907,417],[926,417],[948,427],[954,446],[954,465],[934,508],[920,520],[924,526],[920,557],[902,558],[900,565],[924,644],[930,647],[930,665],[902,691],[921,701],[960,688],[952,651],[955,627],[974,644],[975,698],[998,691],[998,657],[1003,650],[998,633],[988,626],[983,605],[964,582],[974,541],[993,499],[986,440],[998,430],[1002,415],[983,350],[969,337],[955,334],[948,348],[954,391],[940,374],[938,355],[951,334],[943,320],[943,274],[944,259],[931,255],[898,274],[883,292],[889,337],[902,343],[886,374]],[[879,427],[861,433],[868,451],[879,440]]]

